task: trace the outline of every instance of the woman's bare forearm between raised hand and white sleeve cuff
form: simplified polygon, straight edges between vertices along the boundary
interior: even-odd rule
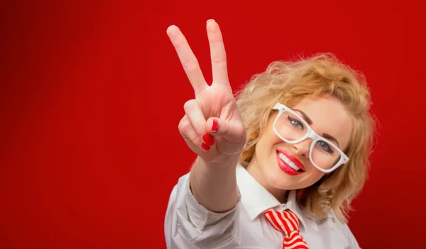
[[[238,201],[236,189],[236,164],[238,157],[220,165],[207,164],[198,157],[191,169],[192,194],[200,205],[209,211],[221,213],[235,207]]]

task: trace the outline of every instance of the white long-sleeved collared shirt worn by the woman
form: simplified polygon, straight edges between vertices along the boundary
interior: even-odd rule
[[[287,203],[280,203],[243,166],[236,167],[239,201],[226,213],[214,213],[201,206],[190,191],[189,173],[173,188],[165,214],[165,240],[169,249],[190,248],[283,248],[284,235],[275,230],[263,211],[290,209],[297,215],[300,234],[310,249],[359,248],[346,224],[330,214],[313,219],[296,202],[290,191]]]

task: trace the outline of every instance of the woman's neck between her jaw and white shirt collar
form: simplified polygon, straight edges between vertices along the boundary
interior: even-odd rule
[[[271,193],[280,203],[286,203],[288,198],[288,190],[286,189],[277,189],[269,181],[267,172],[261,169],[261,166],[258,164],[258,161],[253,157],[246,167],[247,171],[251,176],[253,176],[259,184],[263,186],[269,193]]]

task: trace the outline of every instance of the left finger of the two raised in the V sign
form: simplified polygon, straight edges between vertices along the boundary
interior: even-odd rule
[[[167,34],[175,47],[176,53],[178,53],[180,63],[182,63],[183,70],[185,70],[192,88],[194,88],[195,95],[197,95],[209,86],[206,80],[204,80],[198,60],[194,53],[192,53],[185,36],[183,36],[177,26],[172,25],[168,27]]]

